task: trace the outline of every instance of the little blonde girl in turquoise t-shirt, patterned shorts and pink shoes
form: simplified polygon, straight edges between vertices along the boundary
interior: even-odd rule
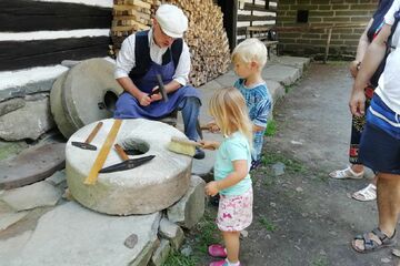
[[[204,149],[216,150],[214,181],[206,185],[206,194],[220,193],[217,225],[222,232],[222,245],[209,246],[209,254],[226,259],[210,266],[239,266],[239,236],[252,221],[251,166],[252,125],[246,102],[234,88],[221,89],[211,98],[209,112],[214,117],[224,140],[202,142]]]

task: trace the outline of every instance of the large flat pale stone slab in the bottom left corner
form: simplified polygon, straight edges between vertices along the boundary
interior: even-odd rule
[[[109,216],[74,202],[66,203],[44,214],[18,253],[4,254],[1,263],[8,266],[134,264],[147,247],[153,247],[160,216],[160,213]],[[124,241],[132,234],[138,235],[138,244],[129,248]],[[151,255],[153,249],[147,248],[149,252]]]

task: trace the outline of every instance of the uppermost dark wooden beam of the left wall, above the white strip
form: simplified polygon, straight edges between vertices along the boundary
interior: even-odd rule
[[[0,1],[0,31],[107,29],[112,9],[94,6],[29,0]]]

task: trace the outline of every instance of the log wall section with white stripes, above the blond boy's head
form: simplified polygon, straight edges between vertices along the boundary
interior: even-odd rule
[[[246,39],[246,28],[249,25],[273,27],[277,7],[278,0],[238,0],[238,42]]]

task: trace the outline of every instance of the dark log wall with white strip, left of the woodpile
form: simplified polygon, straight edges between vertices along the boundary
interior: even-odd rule
[[[0,1],[0,72],[108,54],[112,2]]]

